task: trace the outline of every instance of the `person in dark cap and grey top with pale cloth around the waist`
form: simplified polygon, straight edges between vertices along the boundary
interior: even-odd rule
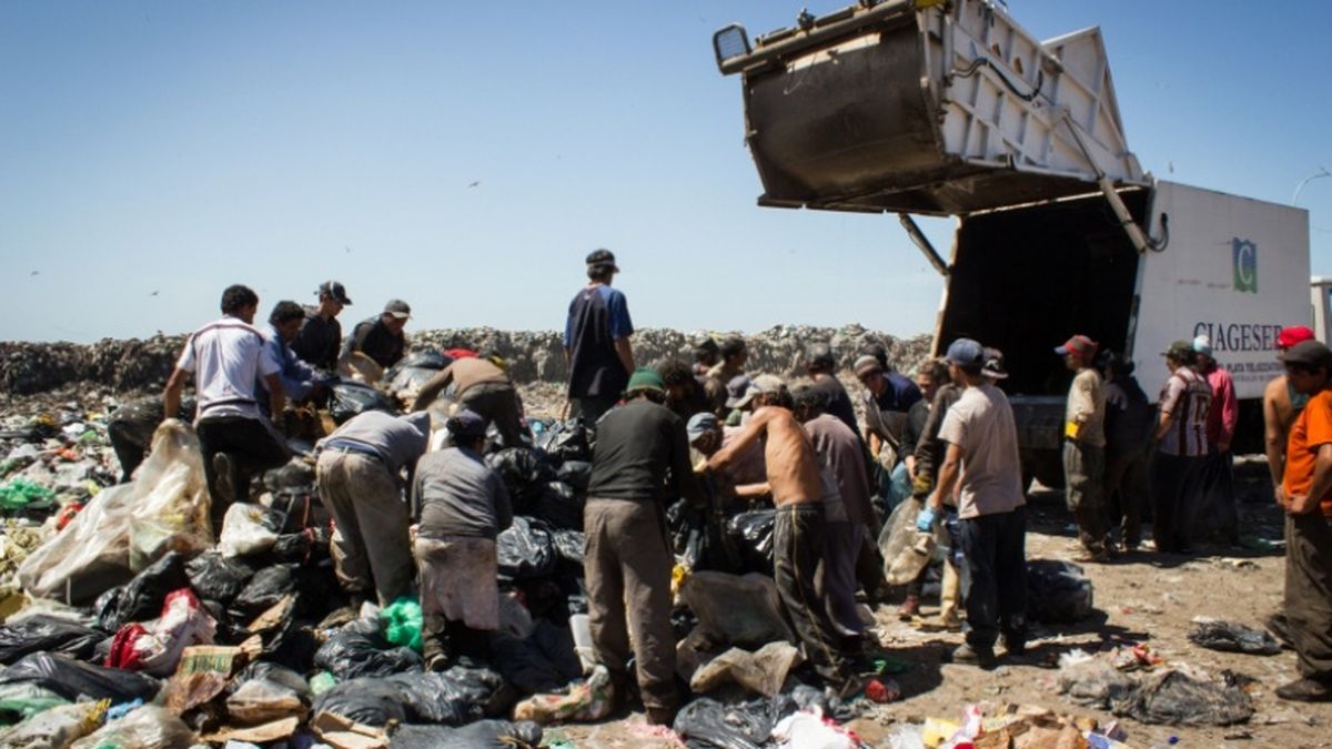
[[[464,408],[445,428],[448,446],[422,456],[412,481],[429,670],[444,670],[450,649],[473,660],[489,656],[489,636],[500,628],[496,537],[513,524],[509,490],[481,454],[486,418]]]

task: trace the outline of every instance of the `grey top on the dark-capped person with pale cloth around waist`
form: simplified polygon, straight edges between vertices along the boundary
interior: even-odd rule
[[[513,525],[513,504],[503,480],[470,448],[445,448],[417,461],[412,481],[412,517],[422,538],[450,536],[494,540]]]

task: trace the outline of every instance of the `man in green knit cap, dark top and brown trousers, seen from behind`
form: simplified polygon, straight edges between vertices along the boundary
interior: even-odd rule
[[[685,497],[702,506],[703,496],[689,462],[685,422],[662,405],[661,376],[635,371],[625,397],[597,424],[583,506],[587,616],[597,661],[613,684],[623,684],[633,656],[649,722],[670,725],[679,694],[666,502]]]

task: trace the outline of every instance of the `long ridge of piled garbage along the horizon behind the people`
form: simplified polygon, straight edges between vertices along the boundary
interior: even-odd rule
[[[342,323],[348,332],[354,325],[352,320]],[[634,333],[634,355],[643,363],[677,356],[689,360],[693,343],[709,335],[721,341],[739,333],[642,329]],[[830,341],[843,369],[851,367],[866,340],[883,343],[888,349],[888,360],[903,371],[930,352],[927,336],[898,339],[860,325],[777,325],[745,336],[745,340],[750,349],[747,369],[786,376],[799,372],[805,347],[815,341]],[[509,360],[510,376],[519,384],[562,382],[569,377],[563,343],[555,331],[409,329],[408,341],[413,351],[494,348]],[[95,344],[0,341],[0,392],[23,396],[80,382],[108,386],[113,392],[160,386],[170,374],[182,345],[184,335],[161,333],[145,340],[104,339]]]

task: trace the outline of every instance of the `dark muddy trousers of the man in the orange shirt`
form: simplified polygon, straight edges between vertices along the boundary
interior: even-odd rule
[[[1285,620],[1300,676],[1332,685],[1332,518],[1285,518]]]

